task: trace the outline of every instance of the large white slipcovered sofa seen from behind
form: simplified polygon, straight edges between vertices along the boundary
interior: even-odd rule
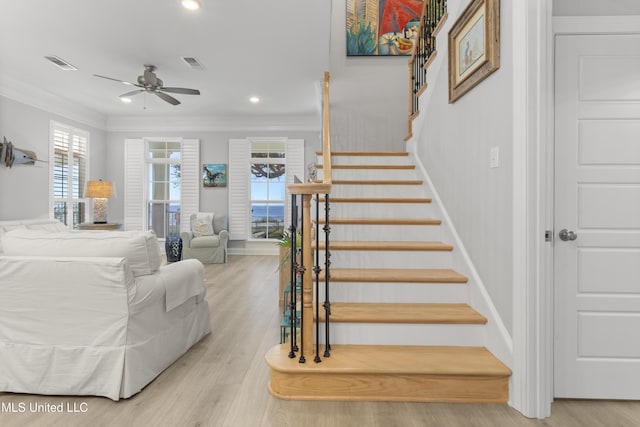
[[[211,331],[202,263],[152,232],[0,239],[0,391],[127,398]]]

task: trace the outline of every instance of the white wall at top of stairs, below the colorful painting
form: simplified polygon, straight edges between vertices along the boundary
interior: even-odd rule
[[[348,57],[345,2],[332,2],[332,149],[402,151],[407,134],[409,57]]]

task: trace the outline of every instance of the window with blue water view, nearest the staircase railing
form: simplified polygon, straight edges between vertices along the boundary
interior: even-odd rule
[[[285,143],[251,143],[251,237],[280,239],[286,196]]]

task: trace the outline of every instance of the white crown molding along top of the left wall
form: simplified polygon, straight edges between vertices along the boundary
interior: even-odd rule
[[[3,76],[0,79],[0,95],[50,114],[106,130],[106,116],[10,77]]]

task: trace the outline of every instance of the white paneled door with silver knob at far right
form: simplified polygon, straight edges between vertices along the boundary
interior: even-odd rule
[[[555,67],[555,396],[640,399],[640,35]]]

